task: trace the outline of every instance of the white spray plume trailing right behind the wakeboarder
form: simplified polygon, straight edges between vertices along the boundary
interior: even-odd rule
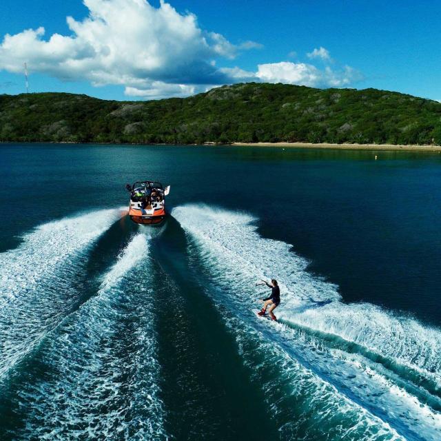
[[[283,309],[280,318],[340,336],[416,369],[438,384],[441,391],[441,333],[417,320],[371,305],[333,302],[320,308]]]

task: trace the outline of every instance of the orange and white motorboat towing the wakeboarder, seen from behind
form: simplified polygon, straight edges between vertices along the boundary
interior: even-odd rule
[[[170,193],[170,185],[163,187],[156,181],[136,181],[133,185],[126,184],[130,192],[129,216],[134,223],[154,225],[163,222],[165,212],[165,196]]]

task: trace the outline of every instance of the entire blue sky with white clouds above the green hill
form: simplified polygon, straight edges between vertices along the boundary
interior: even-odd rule
[[[439,0],[1,0],[0,94],[189,96],[245,81],[441,100]]]

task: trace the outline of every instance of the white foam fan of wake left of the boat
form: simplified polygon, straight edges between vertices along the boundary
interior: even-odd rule
[[[105,209],[46,223],[0,254],[0,377],[69,311],[78,263],[119,216]]]

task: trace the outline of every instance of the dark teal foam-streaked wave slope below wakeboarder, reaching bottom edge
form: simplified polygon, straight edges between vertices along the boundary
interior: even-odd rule
[[[382,422],[338,393],[274,338],[267,338],[242,318],[228,316],[240,355],[265,392],[280,440],[404,441]]]

